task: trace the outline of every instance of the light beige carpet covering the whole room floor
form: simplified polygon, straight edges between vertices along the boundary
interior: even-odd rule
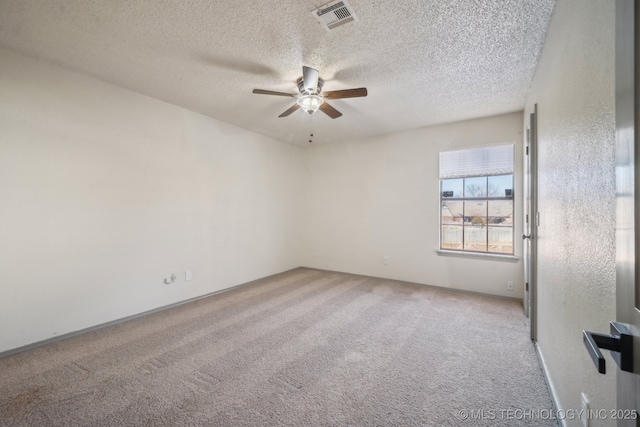
[[[305,268],[0,359],[3,426],[555,425],[518,412],[551,405],[520,303]]]

